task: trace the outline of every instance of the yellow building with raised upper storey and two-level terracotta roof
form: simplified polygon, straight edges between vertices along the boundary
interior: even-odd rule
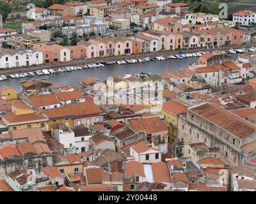
[[[13,102],[12,112],[6,113],[2,117],[3,123],[8,126],[9,130],[41,128],[42,131],[46,131],[48,120],[47,117],[35,112],[21,101]]]

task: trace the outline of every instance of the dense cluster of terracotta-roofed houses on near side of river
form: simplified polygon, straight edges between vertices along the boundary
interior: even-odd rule
[[[66,86],[39,78],[20,94],[1,87],[0,190],[255,191],[253,56],[207,53],[179,71]],[[133,89],[143,103],[97,103]]]

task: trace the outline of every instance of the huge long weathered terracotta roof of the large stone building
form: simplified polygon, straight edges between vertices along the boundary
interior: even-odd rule
[[[254,125],[219,105],[203,103],[202,105],[191,107],[189,110],[226,129],[238,138],[244,138],[256,133]]]

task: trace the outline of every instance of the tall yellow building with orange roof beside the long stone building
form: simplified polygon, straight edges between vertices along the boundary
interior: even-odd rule
[[[168,128],[169,142],[175,142],[177,139],[177,117],[180,113],[187,112],[188,106],[175,100],[170,100],[159,108],[159,115],[164,115],[164,125]]]

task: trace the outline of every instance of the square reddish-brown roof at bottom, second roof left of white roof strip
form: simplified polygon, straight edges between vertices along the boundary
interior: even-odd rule
[[[84,171],[88,185],[102,184],[102,168],[86,168]]]

